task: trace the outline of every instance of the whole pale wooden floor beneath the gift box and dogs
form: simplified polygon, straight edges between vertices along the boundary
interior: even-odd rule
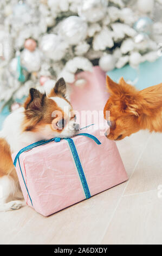
[[[161,244],[162,133],[140,131],[118,148],[127,182],[50,217],[28,206],[0,213],[0,243]]]

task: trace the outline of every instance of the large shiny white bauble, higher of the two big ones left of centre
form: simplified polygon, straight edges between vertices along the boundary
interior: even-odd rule
[[[61,23],[59,34],[68,44],[77,45],[87,36],[87,22],[83,21],[81,17],[70,16]]]

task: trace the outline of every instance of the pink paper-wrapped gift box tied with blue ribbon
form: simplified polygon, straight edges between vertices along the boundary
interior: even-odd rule
[[[90,127],[89,127],[90,129]],[[106,139],[95,125],[82,130],[101,142],[75,136],[73,141],[79,155],[91,196],[127,180],[127,174],[115,142]],[[16,153],[12,155],[14,160]],[[23,177],[24,177],[25,187]],[[62,139],[23,152],[16,172],[27,204],[44,216],[60,211],[86,199],[69,144]],[[30,202],[32,200],[33,205]]]

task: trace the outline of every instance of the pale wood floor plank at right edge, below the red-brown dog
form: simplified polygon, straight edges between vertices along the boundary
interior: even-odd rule
[[[157,190],[162,184],[162,133],[153,133],[126,187],[125,194]]]

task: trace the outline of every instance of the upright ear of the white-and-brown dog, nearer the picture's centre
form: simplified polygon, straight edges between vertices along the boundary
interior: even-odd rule
[[[55,83],[55,87],[53,89],[51,89],[49,97],[53,97],[56,95],[66,97],[66,91],[67,91],[66,82],[64,81],[63,77],[61,77]]]

